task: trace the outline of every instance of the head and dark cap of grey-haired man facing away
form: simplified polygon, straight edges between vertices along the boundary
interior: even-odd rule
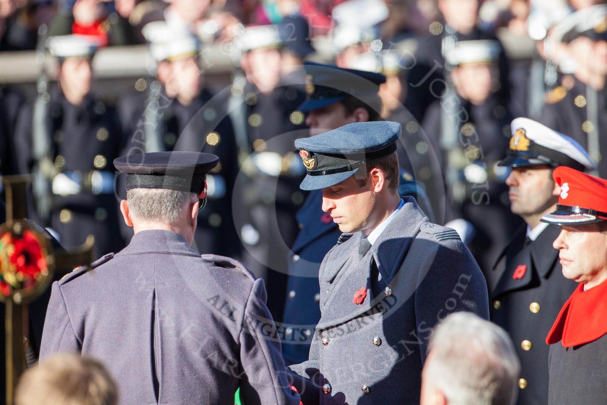
[[[206,204],[206,173],[219,158],[200,152],[131,154],[114,160],[126,173],[120,212],[134,233],[169,230],[192,244],[199,208]]]

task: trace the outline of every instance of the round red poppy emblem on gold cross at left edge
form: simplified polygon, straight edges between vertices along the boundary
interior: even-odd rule
[[[32,290],[41,276],[49,273],[42,241],[25,230],[21,236],[6,231],[0,236],[0,293]]]

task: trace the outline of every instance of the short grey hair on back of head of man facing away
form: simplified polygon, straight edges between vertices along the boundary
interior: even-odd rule
[[[186,207],[198,201],[195,192],[163,188],[132,188],[126,192],[129,211],[135,219],[176,223]]]

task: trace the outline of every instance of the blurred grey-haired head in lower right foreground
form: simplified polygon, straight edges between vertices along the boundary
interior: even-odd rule
[[[507,333],[467,313],[453,313],[430,339],[421,405],[513,405],[520,362]]]

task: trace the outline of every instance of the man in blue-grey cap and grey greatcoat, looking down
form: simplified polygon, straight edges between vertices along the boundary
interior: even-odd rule
[[[322,189],[323,211],[350,234],[320,265],[310,359],[289,367],[306,405],[419,404],[432,327],[455,311],[489,318],[486,282],[458,234],[398,196],[400,135],[379,121],[295,142],[300,188]]]

